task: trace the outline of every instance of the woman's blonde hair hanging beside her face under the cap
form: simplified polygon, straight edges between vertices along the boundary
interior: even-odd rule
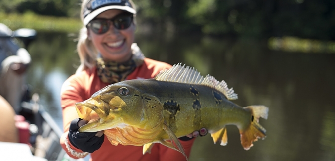
[[[81,20],[84,23],[84,7],[90,0],[82,0],[82,7],[81,7]],[[135,4],[132,0],[129,0],[132,7],[136,10]],[[135,21],[135,15],[134,15],[134,24],[136,24]],[[95,46],[93,45],[92,41],[89,40],[87,35],[87,27],[83,26],[82,29],[79,32],[79,38],[77,43],[77,52],[78,56],[80,58],[80,65],[76,70],[76,74],[80,73],[81,71],[85,69],[92,69],[95,66],[95,60],[98,56],[98,51],[96,50]]]

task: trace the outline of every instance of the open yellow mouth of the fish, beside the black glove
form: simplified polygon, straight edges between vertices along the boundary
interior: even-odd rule
[[[111,122],[115,118],[110,111],[118,110],[116,106],[110,105],[103,100],[93,98],[76,103],[75,105],[79,117],[88,121],[87,124],[78,129],[79,132],[97,132],[109,128],[106,127],[107,122]]]

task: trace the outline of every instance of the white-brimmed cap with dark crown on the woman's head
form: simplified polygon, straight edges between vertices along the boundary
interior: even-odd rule
[[[89,0],[84,6],[84,25],[86,26],[97,15],[109,9],[120,9],[136,14],[129,0]]]

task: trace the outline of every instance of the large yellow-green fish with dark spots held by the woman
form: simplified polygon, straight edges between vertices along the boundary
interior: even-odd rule
[[[79,132],[103,131],[111,144],[143,146],[143,154],[160,143],[186,157],[179,137],[204,127],[214,144],[224,146],[226,125],[236,125],[241,145],[248,150],[266,137],[259,118],[267,119],[269,108],[240,107],[231,101],[237,98],[224,80],[203,77],[195,68],[178,63],[153,79],[111,84],[76,103],[80,118],[89,121]]]

